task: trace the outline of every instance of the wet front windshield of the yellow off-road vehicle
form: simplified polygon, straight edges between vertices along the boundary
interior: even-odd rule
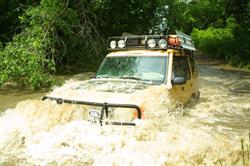
[[[97,72],[97,78],[120,78],[163,83],[167,70],[164,56],[106,57]]]

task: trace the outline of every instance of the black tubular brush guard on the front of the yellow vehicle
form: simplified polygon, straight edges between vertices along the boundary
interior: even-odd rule
[[[106,115],[106,118],[108,118],[108,108],[133,108],[136,109],[137,111],[137,118],[141,119],[142,113],[141,109],[137,105],[133,104],[113,104],[113,103],[97,103],[97,102],[88,102],[88,101],[79,101],[79,100],[68,100],[68,99],[62,99],[62,98],[55,98],[55,97],[48,97],[44,96],[42,100],[54,100],[57,102],[57,104],[79,104],[79,105],[88,105],[88,106],[97,106],[97,107],[102,107],[101,109],[101,115],[100,115],[100,125],[103,125],[103,118],[104,114]],[[135,126],[136,124],[133,122],[106,122],[106,125],[120,125],[120,126]]]

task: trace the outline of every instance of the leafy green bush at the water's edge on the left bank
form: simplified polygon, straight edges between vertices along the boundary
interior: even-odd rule
[[[16,35],[1,52],[1,84],[15,81],[33,88],[51,85],[47,73],[53,69],[49,67],[53,62],[44,57],[41,28],[35,27],[34,30],[34,36],[30,29]]]

